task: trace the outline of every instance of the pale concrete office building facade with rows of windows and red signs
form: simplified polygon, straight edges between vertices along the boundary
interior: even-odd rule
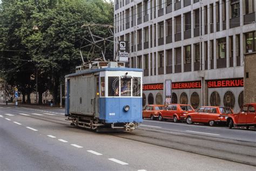
[[[114,38],[129,42],[129,66],[144,69],[143,104],[164,104],[159,87],[171,79],[173,103],[240,110],[255,9],[254,0],[116,0]]]

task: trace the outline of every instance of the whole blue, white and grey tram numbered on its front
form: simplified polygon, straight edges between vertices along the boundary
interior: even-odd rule
[[[92,62],[65,76],[66,120],[97,131],[134,130],[142,122],[143,70]]]

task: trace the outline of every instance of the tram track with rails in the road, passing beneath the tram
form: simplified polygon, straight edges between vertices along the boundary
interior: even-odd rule
[[[21,112],[34,112],[26,111],[15,111],[10,109],[1,109],[2,111],[19,115]],[[24,116],[33,119],[43,120],[60,125],[69,125],[70,122],[65,121],[64,116]],[[54,117],[54,118],[53,118]],[[62,118],[63,120],[60,120]],[[85,131],[89,131],[82,127],[78,127]],[[122,132],[122,133],[107,133],[109,136],[118,138],[124,138],[141,143],[150,145],[157,145],[165,148],[177,149],[179,151],[200,154],[210,156],[213,158],[223,159],[227,161],[233,161],[243,163],[246,165],[256,166],[256,145],[255,143],[248,141],[239,141],[231,139],[220,139],[216,137],[191,135],[188,133],[181,133],[178,131],[170,131],[163,129],[150,129],[150,128],[139,128],[134,132]],[[166,136],[167,135],[167,136]],[[214,145],[215,144],[215,145]],[[242,145],[241,145],[242,144]],[[235,151],[238,149],[238,151]]]

